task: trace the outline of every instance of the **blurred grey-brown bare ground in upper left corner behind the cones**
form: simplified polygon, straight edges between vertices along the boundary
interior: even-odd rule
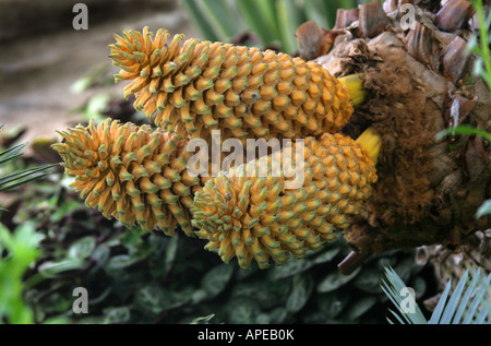
[[[87,0],[88,29],[75,31],[72,0],[0,0],[0,122],[22,127],[24,139],[53,136],[75,121],[70,110],[95,90],[75,82],[97,68],[117,72],[108,58],[112,35],[123,28],[166,27],[195,35],[177,0]],[[83,83],[83,82],[82,82]],[[113,83],[112,83],[113,84]],[[107,92],[111,92],[107,83]],[[115,86],[119,93],[121,85]]]

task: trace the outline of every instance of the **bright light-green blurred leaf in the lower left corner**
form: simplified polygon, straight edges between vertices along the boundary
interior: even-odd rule
[[[0,224],[0,323],[33,323],[33,313],[24,302],[23,276],[39,256],[37,249],[43,236],[33,224],[25,223],[13,232]]]

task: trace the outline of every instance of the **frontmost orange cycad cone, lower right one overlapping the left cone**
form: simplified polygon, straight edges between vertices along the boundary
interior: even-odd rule
[[[287,153],[282,163],[292,159]],[[237,256],[243,269],[252,260],[266,267],[270,258],[282,264],[290,255],[301,258],[319,249],[334,239],[335,229],[349,226],[349,217],[360,212],[376,181],[368,152],[340,134],[304,140],[300,189],[285,188],[290,172],[259,177],[259,168],[271,163],[268,156],[267,162],[235,167],[207,181],[194,196],[191,211],[197,235],[209,240],[205,248],[218,251],[225,262]]]

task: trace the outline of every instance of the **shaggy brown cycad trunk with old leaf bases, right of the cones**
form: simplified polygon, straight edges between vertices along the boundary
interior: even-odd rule
[[[402,3],[416,10],[406,31]],[[468,1],[386,1],[383,8],[375,1],[339,10],[333,31],[309,22],[297,33],[300,53],[333,75],[366,74],[371,97],[343,131],[357,138],[371,126],[382,135],[373,195],[345,231],[355,260],[423,244],[459,251],[491,226],[489,216],[475,217],[491,194],[489,143],[469,135],[435,140],[457,124],[491,130],[490,91],[481,79],[469,80],[475,57],[463,53],[474,14]]]

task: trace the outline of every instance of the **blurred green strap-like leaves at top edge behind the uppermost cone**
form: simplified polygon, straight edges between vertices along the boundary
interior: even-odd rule
[[[205,39],[231,41],[239,34],[255,34],[263,47],[297,50],[298,26],[315,20],[333,27],[337,9],[356,8],[356,0],[183,0],[182,5]]]

